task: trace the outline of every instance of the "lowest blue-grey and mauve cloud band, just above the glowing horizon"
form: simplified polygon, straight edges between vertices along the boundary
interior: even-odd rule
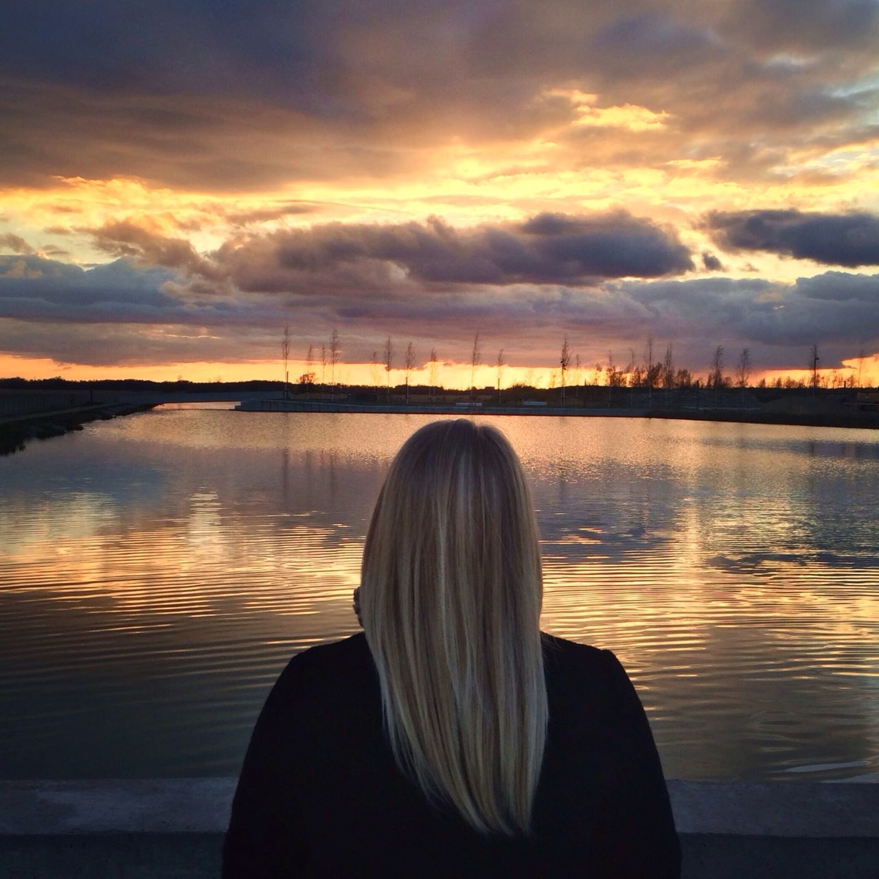
[[[748,345],[755,367],[801,367],[821,345],[828,367],[864,346],[879,350],[879,275],[825,272],[795,284],[766,280],[621,280],[595,287],[530,284],[434,292],[352,286],[224,292],[215,281],[145,269],[131,258],[82,270],[32,256],[0,258],[0,350],[113,365],[265,360],[289,322],[303,353],[336,327],[345,360],[367,362],[390,333],[417,350],[439,345],[466,360],[475,328],[513,364],[552,365],[568,334],[585,363],[607,351],[640,357],[653,333],[675,343],[680,366],[703,371],[714,345]]]

